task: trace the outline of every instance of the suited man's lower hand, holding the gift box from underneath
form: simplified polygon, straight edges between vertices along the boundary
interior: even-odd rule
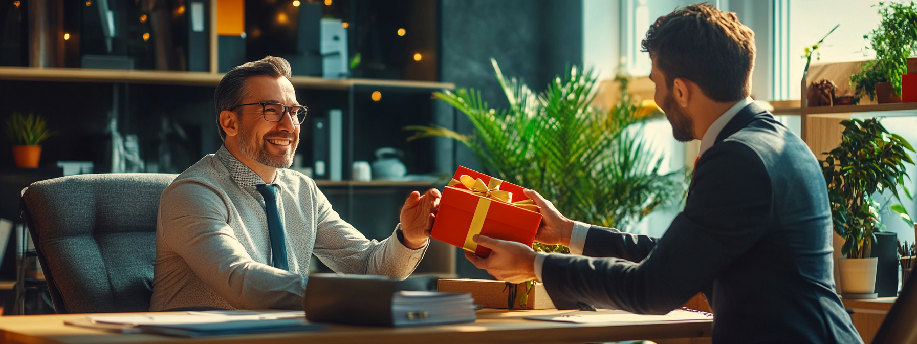
[[[478,269],[486,270],[494,278],[509,282],[535,281],[535,251],[515,241],[492,239],[480,234],[472,238],[478,245],[491,249],[487,258],[465,251],[467,258]]]

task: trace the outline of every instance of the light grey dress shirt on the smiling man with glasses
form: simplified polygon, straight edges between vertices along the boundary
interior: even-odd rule
[[[182,172],[162,192],[151,311],[176,307],[302,309],[312,254],[335,272],[404,278],[426,246],[366,239],[337,216],[315,181],[280,169],[278,211],[290,271],[271,267],[260,176],[226,147]]]

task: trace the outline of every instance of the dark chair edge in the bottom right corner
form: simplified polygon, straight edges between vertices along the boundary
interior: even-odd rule
[[[901,294],[889,314],[878,327],[872,344],[917,343],[917,278],[911,276],[901,288]]]

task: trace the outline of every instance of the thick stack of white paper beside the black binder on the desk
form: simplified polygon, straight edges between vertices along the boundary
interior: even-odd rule
[[[392,295],[394,326],[425,326],[473,322],[471,294],[398,292]]]

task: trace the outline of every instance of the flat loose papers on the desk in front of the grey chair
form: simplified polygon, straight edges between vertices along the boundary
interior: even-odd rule
[[[113,330],[124,333],[155,333],[179,337],[211,337],[257,333],[312,331],[324,328],[310,324],[303,311],[205,311],[145,313],[127,316],[86,316],[65,321],[67,325]]]

